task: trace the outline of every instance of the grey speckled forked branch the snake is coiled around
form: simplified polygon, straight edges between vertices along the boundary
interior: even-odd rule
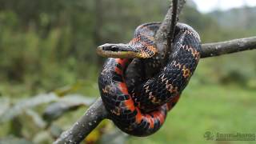
[[[181,10],[184,5],[184,1],[180,1],[181,3],[178,5],[178,10]],[[177,12],[177,11],[176,11]],[[174,31],[174,26],[170,28],[170,23],[176,22],[176,20],[171,20],[173,10],[170,8],[166,14],[165,20],[162,22],[162,26],[158,30],[159,35],[163,35],[164,37],[158,38],[158,43],[163,42],[166,45],[166,39],[170,32]],[[179,13],[179,11],[178,11]],[[168,30],[168,28],[170,28]],[[172,37],[170,37],[172,38]],[[202,44],[202,58],[214,57],[222,54],[230,54],[236,53],[244,50],[254,50],[256,49],[256,37],[250,38],[240,38],[234,39],[226,42],[214,42],[214,43],[206,43]],[[98,98],[96,102],[92,106],[86,110],[86,113],[79,118],[77,122],[74,123],[73,126],[69,130],[64,131],[61,136],[54,142],[55,144],[60,143],[79,143],[82,142],[84,138],[96,126],[98,126],[99,122],[103,119],[107,118],[107,111],[102,103],[102,98]]]

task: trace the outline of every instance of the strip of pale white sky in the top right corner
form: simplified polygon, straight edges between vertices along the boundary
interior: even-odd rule
[[[256,0],[194,0],[201,12],[209,12],[211,10],[228,10],[241,6],[256,6]]]

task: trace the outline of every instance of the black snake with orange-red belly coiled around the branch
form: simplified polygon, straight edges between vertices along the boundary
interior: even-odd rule
[[[161,22],[142,24],[136,28],[130,42],[106,43],[97,48],[97,53],[106,57],[98,77],[102,102],[110,119],[126,134],[142,137],[160,129],[200,59],[199,34],[191,26],[178,22],[166,65],[151,78],[133,79],[137,84],[129,86],[127,82],[133,81],[126,78],[126,70],[134,59],[151,60],[148,61],[151,66],[158,63],[154,36],[160,25]],[[135,66],[135,69],[142,67]]]

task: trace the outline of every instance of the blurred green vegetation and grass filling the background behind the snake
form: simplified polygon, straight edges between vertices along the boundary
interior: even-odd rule
[[[166,0],[0,0],[0,116],[24,98],[28,102],[38,98],[32,97],[37,94],[99,96],[97,78],[104,58],[95,54],[95,48],[106,42],[129,42],[136,26],[162,21],[168,5]],[[189,1],[179,21],[198,30],[203,43],[256,35],[255,7],[201,14]],[[206,142],[206,131],[255,133],[255,95],[256,50],[202,59],[162,129],[149,138],[123,141]],[[90,103],[86,102],[71,107]],[[33,109],[36,118],[45,114],[48,104]],[[31,110],[27,107],[23,108]],[[84,110],[68,112],[43,128],[32,124],[34,116],[13,114],[0,121],[0,143],[10,139],[50,143],[58,136],[56,131],[67,129]],[[86,142],[104,139],[99,136],[112,131],[105,122]]]

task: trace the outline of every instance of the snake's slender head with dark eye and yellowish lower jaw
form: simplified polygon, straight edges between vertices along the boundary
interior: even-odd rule
[[[112,44],[106,43],[98,46],[97,54],[106,58],[151,58],[153,55],[148,54],[147,50],[138,49],[130,44]]]

